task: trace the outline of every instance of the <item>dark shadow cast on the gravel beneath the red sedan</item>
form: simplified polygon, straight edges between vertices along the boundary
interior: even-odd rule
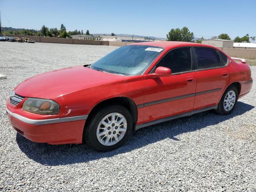
[[[175,136],[200,130],[206,126],[216,125],[235,116],[242,115],[253,108],[254,106],[252,105],[237,102],[236,109],[232,114],[226,116],[207,111],[148,126],[131,134],[130,138],[123,146],[110,152],[97,152],[86,144],[50,145],[46,143],[36,143],[24,138],[18,133],[16,134],[16,142],[20,150],[24,152],[28,158],[40,164],[57,166],[88,162],[129,152],[166,138],[179,141]]]

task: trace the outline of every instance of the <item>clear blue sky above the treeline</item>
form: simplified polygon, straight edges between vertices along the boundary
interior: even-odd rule
[[[188,27],[195,37],[256,36],[256,0],[0,0],[2,26],[89,30],[166,38]]]

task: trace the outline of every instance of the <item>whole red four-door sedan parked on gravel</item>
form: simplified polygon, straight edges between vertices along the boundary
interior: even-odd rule
[[[34,142],[84,140],[108,151],[132,130],[212,109],[230,114],[251,88],[246,60],[204,44],[144,42],[91,65],[28,78],[6,111],[14,129]]]

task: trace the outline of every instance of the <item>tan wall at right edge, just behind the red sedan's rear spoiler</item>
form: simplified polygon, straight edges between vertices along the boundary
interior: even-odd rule
[[[223,50],[223,52],[228,54],[230,57],[256,59],[256,50],[255,49],[223,48],[222,50]]]

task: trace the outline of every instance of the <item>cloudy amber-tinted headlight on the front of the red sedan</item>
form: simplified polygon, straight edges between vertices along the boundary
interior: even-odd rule
[[[47,99],[28,98],[22,109],[31,113],[49,115],[58,114],[60,106],[58,103]]]

